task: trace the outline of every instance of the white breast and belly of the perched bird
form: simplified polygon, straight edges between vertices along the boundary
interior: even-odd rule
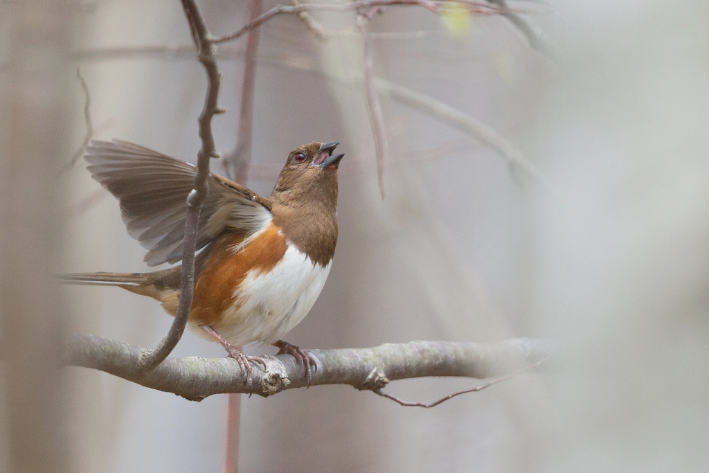
[[[286,253],[269,272],[250,271],[234,291],[234,305],[215,327],[233,345],[274,343],[303,320],[328,279],[323,267],[287,244]]]

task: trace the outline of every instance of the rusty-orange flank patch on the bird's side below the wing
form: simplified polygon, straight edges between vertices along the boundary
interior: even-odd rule
[[[247,272],[270,271],[286,253],[286,237],[269,225],[240,252],[230,247],[241,243],[243,235],[230,235],[216,243],[194,286],[189,320],[198,324],[218,324],[223,312],[234,302],[234,290]]]

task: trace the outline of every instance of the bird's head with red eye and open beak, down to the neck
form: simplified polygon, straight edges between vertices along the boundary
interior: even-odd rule
[[[337,167],[342,155],[333,155],[336,141],[308,143],[291,151],[271,194],[283,204],[337,205]]]

